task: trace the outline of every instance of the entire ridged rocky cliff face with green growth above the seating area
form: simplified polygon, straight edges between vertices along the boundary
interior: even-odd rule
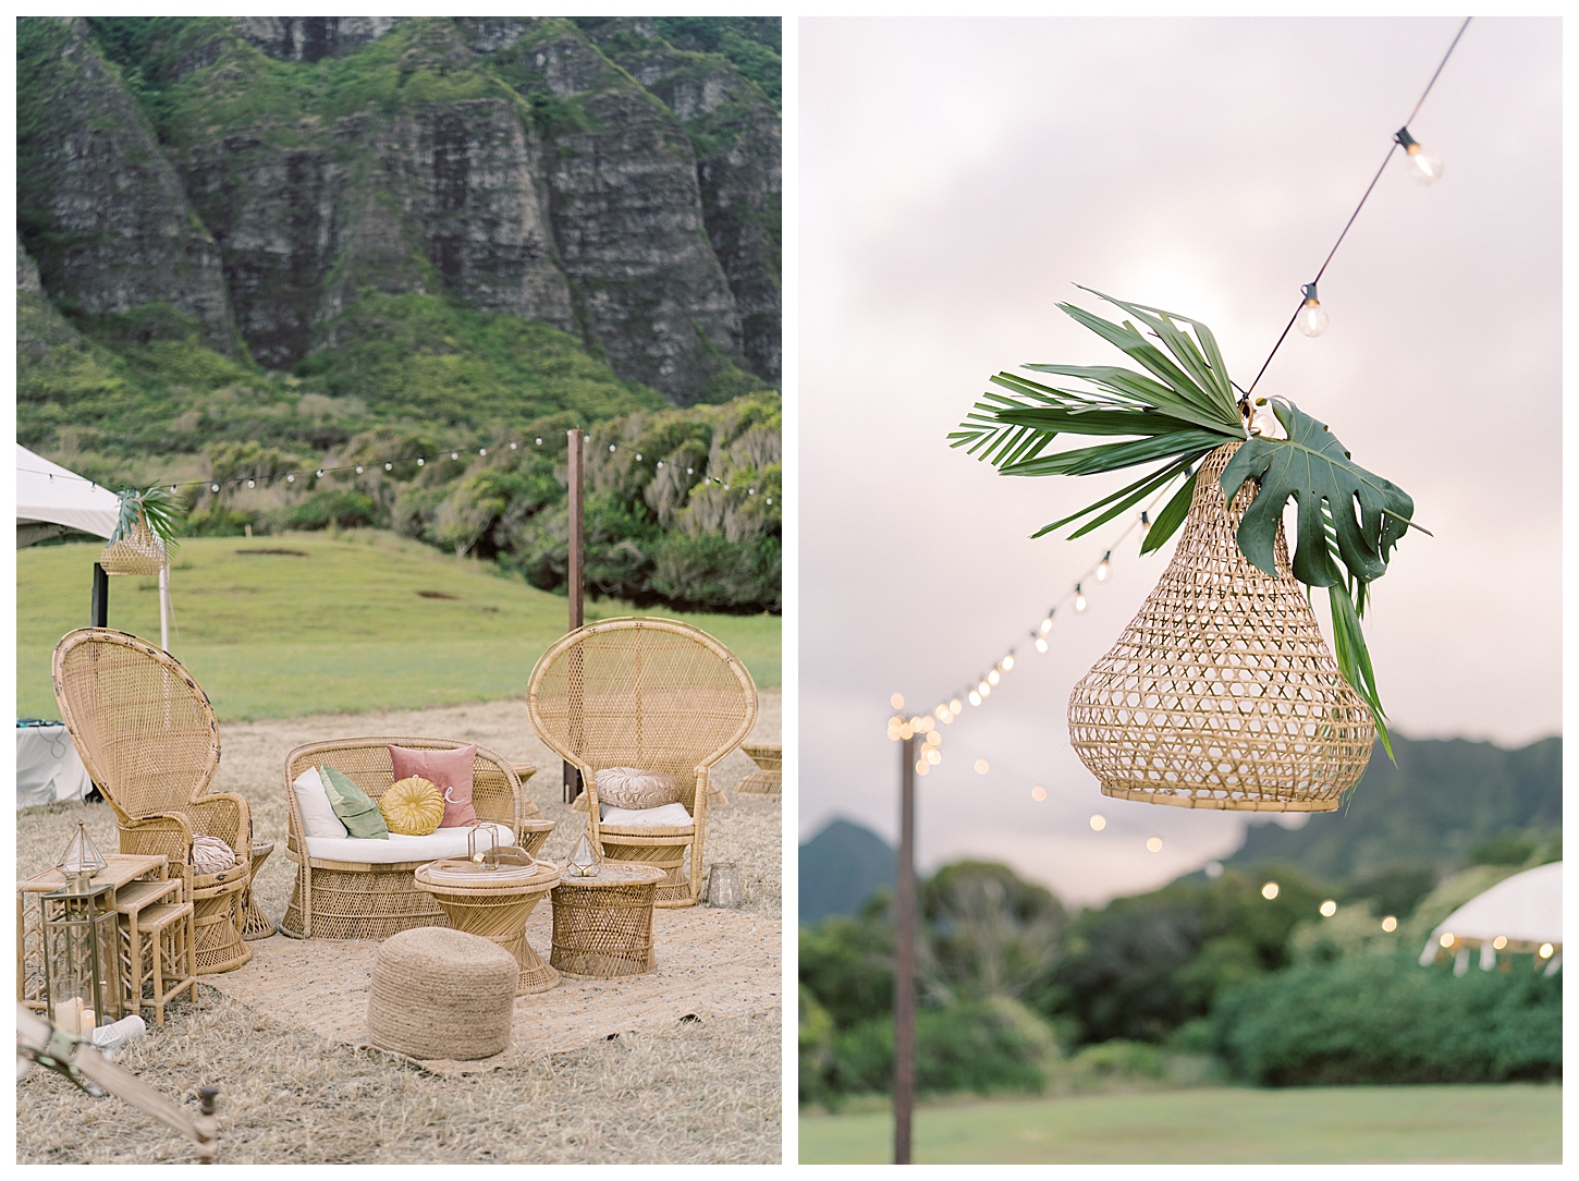
[[[60,46],[22,47],[54,101],[19,178],[58,302],[169,303],[291,368],[362,289],[445,292],[676,403],[777,381],[777,114],[723,58],[562,19],[164,21],[139,104],[81,22],[24,25]]]

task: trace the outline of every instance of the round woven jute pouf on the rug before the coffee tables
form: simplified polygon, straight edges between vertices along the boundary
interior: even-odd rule
[[[510,1045],[521,965],[491,939],[422,927],[373,957],[368,1044],[411,1058],[472,1061]]]

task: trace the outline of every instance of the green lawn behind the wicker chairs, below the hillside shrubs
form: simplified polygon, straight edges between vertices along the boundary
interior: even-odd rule
[[[19,717],[60,717],[49,658],[60,636],[88,622],[101,548],[17,551]],[[156,581],[111,578],[109,587],[109,625],[158,643]],[[565,630],[564,598],[376,531],[186,538],[171,598],[171,649],[227,722],[524,693],[537,657]],[[632,609],[587,603],[589,622],[617,614]],[[778,684],[777,616],[646,614],[703,628],[745,662],[758,685]]]

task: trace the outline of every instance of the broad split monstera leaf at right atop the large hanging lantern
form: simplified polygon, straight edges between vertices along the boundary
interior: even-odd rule
[[[1374,583],[1386,573],[1393,546],[1410,527],[1415,502],[1396,483],[1352,463],[1326,423],[1284,399],[1273,403],[1273,414],[1288,437],[1252,436],[1222,472],[1222,494],[1230,504],[1246,480],[1260,483],[1240,521],[1240,549],[1257,570],[1277,576],[1273,540],[1292,496],[1300,505],[1293,576],[1306,586],[1336,586],[1342,579],[1333,561],[1336,543],[1350,578]]]

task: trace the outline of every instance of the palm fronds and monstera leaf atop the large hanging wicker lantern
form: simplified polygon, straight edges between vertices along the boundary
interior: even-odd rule
[[[1240,549],[1258,570],[1276,578],[1274,538],[1284,505],[1293,497],[1298,504],[1293,575],[1307,587],[1328,589],[1337,665],[1371,706],[1391,755],[1360,619],[1371,583],[1386,573],[1393,546],[1413,526],[1415,502],[1396,485],[1353,464],[1328,426],[1290,401],[1276,399],[1271,406],[1284,437],[1268,434],[1255,417],[1255,406],[1266,406],[1266,399],[1252,403],[1249,393],[1235,393],[1217,338],[1200,321],[1093,294],[1140,321],[1145,332],[1127,319],[1113,324],[1072,303],[1058,306],[1120,347],[1145,373],[1113,365],[1023,366],[1078,382],[1067,388],[1000,373],[992,382],[1003,393],[985,393],[949,436],[951,445],[965,447],[968,455],[992,463],[1004,475],[1096,475],[1159,464],[1034,534],[1042,537],[1078,523],[1069,537],[1083,537],[1178,485],[1142,540],[1140,553],[1145,554],[1184,523],[1200,461],[1225,442],[1243,441],[1222,474],[1228,501],[1246,480],[1257,482],[1255,497],[1236,534]],[[1050,450],[1060,436],[1071,434],[1115,437],[1091,447]]]

